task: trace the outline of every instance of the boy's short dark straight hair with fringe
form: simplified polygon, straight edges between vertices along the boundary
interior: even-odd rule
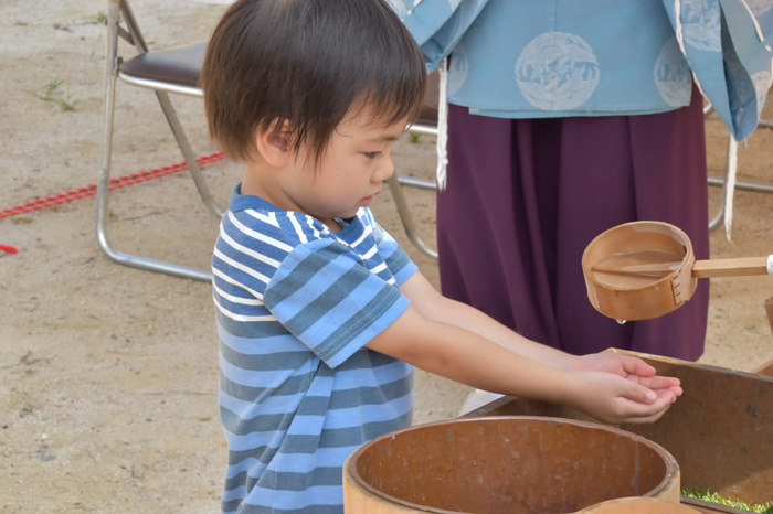
[[[201,75],[210,133],[237,160],[253,156],[256,130],[288,121],[289,148],[309,142],[317,161],[352,106],[386,125],[415,119],[425,82],[421,51],[383,0],[239,0]]]

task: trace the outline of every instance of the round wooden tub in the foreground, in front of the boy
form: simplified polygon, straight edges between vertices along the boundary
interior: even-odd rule
[[[561,513],[614,497],[679,502],[679,468],[660,446],[613,427],[506,416],[400,430],[343,467],[347,514]]]

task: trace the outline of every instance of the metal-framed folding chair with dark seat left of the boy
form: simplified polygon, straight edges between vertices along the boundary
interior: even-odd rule
[[[161,51],[149,51],[142,38],[134,12],[127,0],[108,0],[107,14],[107,56],[105,73],[105,96],[102,130],[100,170],[97,181],[97,211],[96,235],[99,247],[109,258],[119,264],[136,268],[160,271],[179,277],[188,277],[197,280],[209,281],[212,274],[208,270],[189,268],[186,266],[166,263],[161,260],[129,255],[116,250],[110,246],[107,234],[107,203],[110,182],[110,161],[113,153],[113,120],[115,108],[116,78],[120,77],[125,83],[134,86],[153,89],[161,110],[177,140],[177,144],[186,160],[188,171],[199,191],[204,205],[216,216],[220,210],[212,199],[201,174],[201,169],[191,150],[190,143],[182,129],[182,125],[169,99],[169,94],[190,96],[203,96],[199,87],[199,71],[203,63],[205,42],[183,47]],[[137,54],[124,60],[118,53],[119,38],[131,44]]]

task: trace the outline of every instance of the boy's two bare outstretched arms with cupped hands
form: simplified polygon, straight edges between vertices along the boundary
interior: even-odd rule
[[[404,283],[412,306],[368,347],[473,387],[572,405],[610,422],[654,421],[677,396],[671,388],[658,388],[646,379],[626,379],[607,371],[573,370],[563,361],[564,355],[566,360],[571,356],[552,349],[543,351],[537,343],[515,338],[516,347],[526,349],[525,356],[508,347],[509,341],[501,344],[485,336],[491,335],[489,330],[498,334],[500,329],[488,326],[485,320],[490,319],[478,318],[474,309],[454,309],[460,318],[448,322],[442,312],[436,312],[443,306],[425,303],[437,298],[425,290],[424,283],[434,291],[419,274]],[[555,367],[549,364],[553,355],[561,357]]]

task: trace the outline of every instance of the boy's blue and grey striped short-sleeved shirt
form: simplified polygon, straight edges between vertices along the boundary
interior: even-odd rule
[[[341,513],[341,468],[406,427],[413,368],[364,345],[416,271],[368,208],[331,232],[234,191],[215,243],[223,512]]]

